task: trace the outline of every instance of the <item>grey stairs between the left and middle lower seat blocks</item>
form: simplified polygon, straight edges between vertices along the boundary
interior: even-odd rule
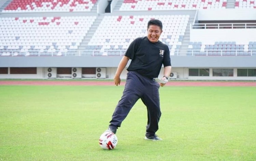
[[[99,27],[100,22],[102,21],[103,18],[104,18],[104,15],[97,16],[97,19],[93,22],[93,25],[91,25],[88,33],[86,34],[86,36],[82,40],[80,46],[78,47],[79,50],[85,50],[86,49],[87,44],[89,43],[90,39],[93,37],[93,34],[95,33],[95,31]]]

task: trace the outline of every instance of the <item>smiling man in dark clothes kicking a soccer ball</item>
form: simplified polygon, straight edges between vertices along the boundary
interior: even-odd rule
[[[158,39],[162,33],[162,22],[152,19],[147,24],[147,36],[136,38],[120,61],[114,76],[115,85],[120,84],[120,74],[127,65],[127,79],[122,98],[119,100],[110,121],[109,129],[116,133],[133,105],[140,98],[147,107],[146,140],[161,140],[157,135],[161,116],[159,101],[159,84],[153,80],[158,77],[162,64],[164,66],[162,81],[168,80],[171,73],[170,52],[167,45]],[[165,83],[160,83],[164,86]]]

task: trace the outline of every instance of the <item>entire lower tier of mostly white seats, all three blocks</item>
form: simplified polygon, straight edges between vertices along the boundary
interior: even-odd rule
[[[160,41],[168,45],[172,55],[175,54],[181,48],[189,15],[104,16],[86,49],[95,50],[92,52],[96,53],[111,51],[120,54],[135,38],[146,36],[147,22],[154,18],[161,19],[164,24]],[[48,23],[40,25],[35,20]],[[27,55],[39,52],[73,52],[73,49],[80,46],[95,20],[96,16],[0,17],[0,52],[5,53],[4,55],[11,53],[11,50],[17,53],[27,52]],[[57,25],[56,22],[60,24]],[[188,48],[191,52],[199,51],[204,54],[215,50],[222,50],[221,53],[224,50],[232,53],[242,50],[243,54],[250,54],[250,51],[256,49],[256,42],[190,42]]]

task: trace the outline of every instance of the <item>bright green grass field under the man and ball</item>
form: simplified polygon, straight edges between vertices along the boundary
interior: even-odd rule
[[[124,86],[0,86],[0,161],[255,161],[256,87],[160,88],[162,141],[144,140],[139,100],[98,144]]]

